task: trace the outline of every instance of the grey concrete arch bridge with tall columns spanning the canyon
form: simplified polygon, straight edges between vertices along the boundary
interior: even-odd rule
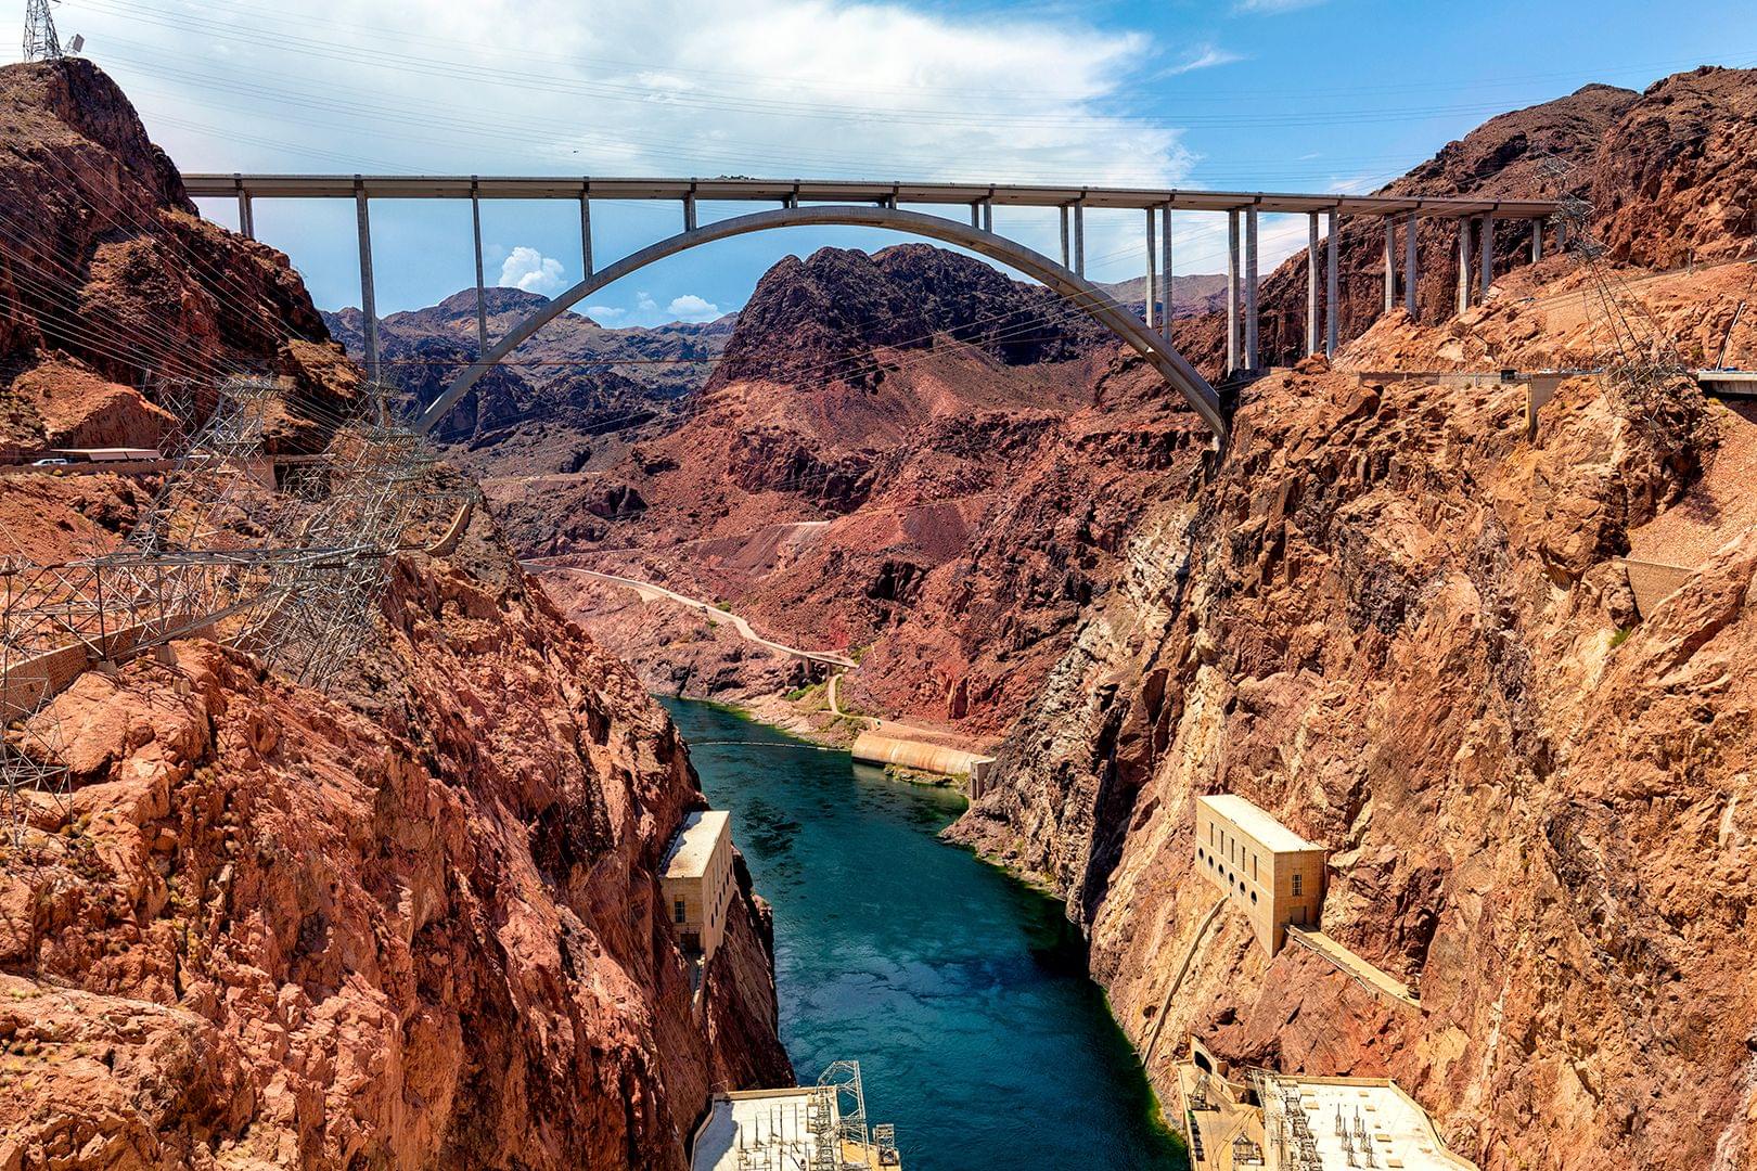
[[[1527,219],[1532,223],[1532,258],[1543,255],[1544,223],[1557,204],[1548,200],[1471,200],[1411,198],[1374,195],[1290,195],[1267,191],[1175,191],[1123,188],[1045,188],[977,184],[903,184],[854,181],[768,181],[768,179],[592,179],[592,177],[501,177],[480,176],[184,176],[188,193],[197,198],[235,198],[239,226],[255,235],[253,204],[258,198],[350,198],[357,207],[360,251],[360,307],[365,318],[365,367],[369,377],[380,374],[378,316],[372,288],[372,198],[457,198],[469,200],[476,246],[476,360],[429,406],[418,423],[430,430],[471,386],[495,363],[511,355],[546,323],[578,305],[592,293],[650,263],[738,235],[791,226],[866,226],[958,244],[1005,263],[1040,281],[1070,305],[1086,313],[1146,358],[1202,420],[1225,435],[1226,418],[1219,395],[1172,346],[1170,314],[1154,320],[1161,274],[1163,288],[1172,277],[1172,212],[1193,211],[1226,216],[1228,297],[1226,297],[1226,370],[1251,374],[1258,360],[1258,214],[1283,212],[1309,218],[1307,248],[1307,353],[1337,348],[1337,216],[1376,216],[1385,223],[1385,309],[1397,300],[1397,226],[1404,225],[1404,290],[1414,311],[1418,216],[1458,221],[1458,305],[1488,290],[1493,270],[1493,221]],[[580,205],[582,279],[543,309],[515,327],[497,344],[488,346],[483,311],[481,200],[483,198],[566,198]],[[682,232],[641,248],[615,263],[597,269],[592,262],[592,204],[597,200],[676,200],[683,211]],[[757,211],[708,225],[698,221],[698,202],[770,202],[780,207]],[[968,207],[968,223],[940,214],[905,211],[901,204]],[[1033,251],[994,230],[994,205],[1056,207],[1061,216],[1061,258]],[[1146,320],[1137,318],[1110,295],[1086,279],[1086,209],[1135,209],[1146,212],[1147,297]],[[1320,216],[1328,218],[1328,265],[1320,293]],[[1242,237],[1240,237],[1242,226]],[[1242,244],[1242,248],[1240,248]],[[1472,244],[1476,256],[1472,265]],[[1242,258],[1242,265],[1240,265]],[[1320,323],[1327,328],[1320,332]]]

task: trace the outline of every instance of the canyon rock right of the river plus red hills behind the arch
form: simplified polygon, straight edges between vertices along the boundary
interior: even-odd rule
[[[1717,68],[1588,86],[1388,191],[1587,198],[1652,332],[1748,367],[1753,98]],[[1425,225],[1411,318],[1377,314],[1377,223],[1346,225],[1330,362],[1297,353],[1304,256],[1269,274],[1281,369],[1239,392],[1219,455],[1144,363],[1051,314],[1028,363],[935,300],[908,330],[863,323],[898,283],[919,300],[915,246],[785,260],[675,430],[494,507],[525,551],[856,650],[854,711],[996,746],[949,834],[1063,899],[1142,1052],[1191,1032],[1235,1064],[1393,1076],[1483,1167],[1746,1166],[1753,551],[1717,509],[1748,495],[1752,423],[1694,390],[1655,420],[1578,377],[1530,439],[1522,384],[1444,381],[1606,346],[1578,258],[1530,263],[1499,230],[1495,288],[1457,313],[1455,237]],[[1031,311],[935,263],[989,320]],[[1219,314],[1175,337],[1218,376]],[[1692,525],[1687,585],[1638,607],[1620,558]],[[840,734],[798,662],[712,618],[552,588],[648,686],[792,686]],[[1307,950],[1263,957],[1242,922],[1200,943],[1212,792],[1328,846],[1325,932],[1420,1013]]]

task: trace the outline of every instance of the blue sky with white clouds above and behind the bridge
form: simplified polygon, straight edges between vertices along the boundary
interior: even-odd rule
[[[25,0],[0,2],[0,44],[16,46]],[[1664,12],[1634,0],[65,0],[54,19],[190,172],[1370,191],[1486,118],[1581,84],[1757,65],[1750,0]],[[204,212],[235,226],[228,200]],[[360,302],[353,216],[343,200],[255,204],[257,235],[325,309]],[[1059,251],[1052,211],[1000,207],[994,225]],[[597,267],[680,228],[675,204],[594,204]],[[1179,214],[1177,270],[1219,270],[1223,232],[1221,216]],[[1305,223],[1265,216],[1262,233],[1267,272]],[[712,320],[787,253],[903,239],[740,237],[583,309],[604,325]],[[490,284],[553,295],[582,276],[569,202],[485,202],[483,241]],[[469,288],[467,202],[374,200],[372,258],[381,314]],[[1088,276],[1144,265],[1140,212],[1088,214]]]

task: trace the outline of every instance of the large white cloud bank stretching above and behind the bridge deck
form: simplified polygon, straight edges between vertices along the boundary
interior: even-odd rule
[[[1061,4],[1005,19],[986,5],[922,0],[148,0],[139,19],[114,7],[93,11],[84,30],[114,42],[105,67],[181,165],[221,172],[1165,188],[1188,184],[1195,158],[1165,107],[1139,102],[1140,90],[1233,56],[1100,28]],[[323,30],[315,51],[311,28]],[[615,239],[622,212],[606,207],[601,241]],[[494,211],[503,214],[527,212]],[[1001,209],[996,221],[1058,251],[1052,212]],[[1091,272],[1126,276],[1107,258],[1133,267],[1137,237],[1132,216],[1089,216]],[[309,239],[322,241],[322,283],[350,288],[348,237],[325,226]],[[606,244],[599,263],[610,260]],[[552,288],[541,263],[506,283]]]

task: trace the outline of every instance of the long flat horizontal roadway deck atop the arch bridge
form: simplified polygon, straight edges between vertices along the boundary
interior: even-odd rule
[[[188,193],[202,198],[568,198],[698,200],[780,204],[1001,204],[1010,207],[1133,207],[1175,211],[1323,212],[1390,216],[1483,216],[1541,219],[1553,200],[1416,198],[1293,191],[1189,191],[1153,188],[1021,186],[987,183],[887,183],[857,179],[627,179],[592,176],[269,176],[188,174]]]

